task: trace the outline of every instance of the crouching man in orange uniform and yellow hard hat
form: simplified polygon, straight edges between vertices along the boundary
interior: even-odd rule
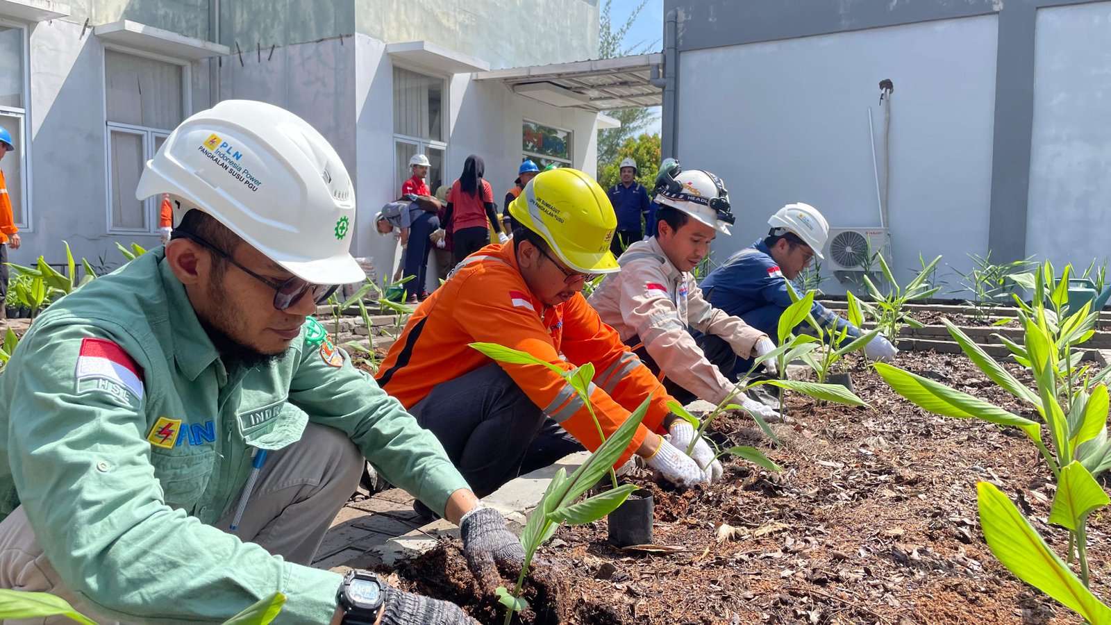
[[[582,297],[593,275],[619,269],[609,251],[617,218],[605,192],[562,168],[537,176],[510,211],[520,224],[512,240],[467,257],[417,308],[379,369],[379,385],[440,439],[482,497],[581,446],[597,449],[601,439],[588,407],[556,371],[494,363],[469,344],[500,343],[564,370],[592,363],[590,401],[607,436],[652,398],[617,465],[637,454],[673,484],[707,482],[709,466],[660,436],[681,420],[668,410],[671,397]]]

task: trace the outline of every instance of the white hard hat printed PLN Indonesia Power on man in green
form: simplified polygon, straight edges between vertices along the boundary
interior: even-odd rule
[[[296,115],[224,100],[181,122],[147,161],[136,197],[171,194],[316,285],[362,281],[348,254],[354,188],[339,155]]]

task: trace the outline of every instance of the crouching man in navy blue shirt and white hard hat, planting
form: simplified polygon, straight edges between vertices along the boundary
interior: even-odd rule
[[[808,204],[789,204],[768,220],[771,230],[751,247],[729,257],[710,272],[700,285],[707,300],[728,315],[740,317],[745,324],[767,334],[778,336],[779,317],[792,304],[788,280],[793,280],[810,265],[810,259],[822,258],[821,249],[829,237],[829,224],[818,209]],[[849,328],[849,336],[861,335],[860,329],[814,301],[810,311],[827,334],[835,335]],[[699,337],[703,350],[713,346],[712,336]],[[899,350],[883,335],[877,335],[864,347],[873,360],[890,360]],[[751,368],[751,360],[738,359],[733,371],[722,371],[735,380]]]

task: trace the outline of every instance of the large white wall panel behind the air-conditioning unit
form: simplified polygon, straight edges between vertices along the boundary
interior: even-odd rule
[[[678,157],[721,176],[738,215],[715,258],[765,235],[788,202],[814,205],[834,227],[879,224],[868,109],[882,159],[885,78],[895,88],[889,208],[900,280],[919,252],[961,268],[965,252],[985,254],[995,46],[997,19],[985,16],[683,52]]]

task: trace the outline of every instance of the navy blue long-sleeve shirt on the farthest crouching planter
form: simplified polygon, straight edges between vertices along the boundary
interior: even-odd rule
[[[761,239],[730,256],[699,286],[714,308],[744,319],[772,340],[779,335],[780,316],[792,304],[787,278]],[[810,312],[827,335],[840,334],[843,328],[849,328],[853,338],[861,335],[857,327],[818,301]]]

